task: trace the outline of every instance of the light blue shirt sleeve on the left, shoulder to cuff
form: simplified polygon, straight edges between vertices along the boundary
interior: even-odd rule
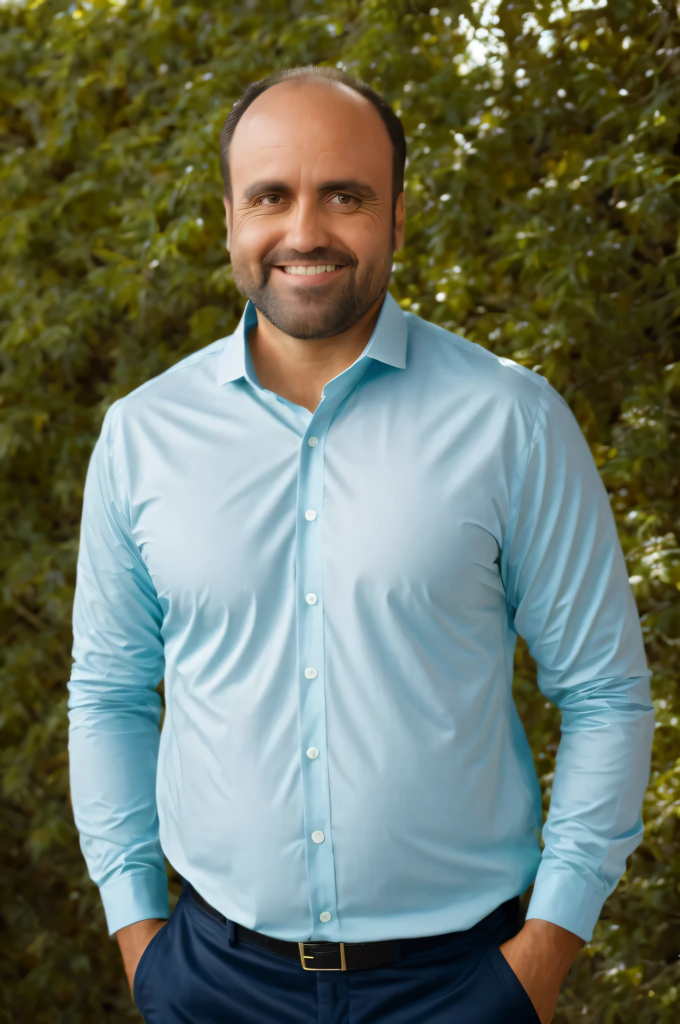
[[[85,485],[69,684],[71,792],[109,930],[168,916],[156,770],[161,609],[131,537],[104,420]]]

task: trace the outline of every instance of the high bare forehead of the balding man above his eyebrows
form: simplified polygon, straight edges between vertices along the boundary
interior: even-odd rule
[[[229,145],[235,190],[248,178],[356,177],[390,188],[392,142],[373,103],[336,82],[282,82],[257,97]]]

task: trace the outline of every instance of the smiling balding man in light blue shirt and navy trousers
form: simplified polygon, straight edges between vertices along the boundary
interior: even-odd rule
[[[73,800],[148,1022],[545,1024],[641,837],[606,493],[543,378],[389,296],[405,156],[339,72],[251,86],[222,133],[243,319],[92,457]],[[517,633],[562,712],[543,855]]]

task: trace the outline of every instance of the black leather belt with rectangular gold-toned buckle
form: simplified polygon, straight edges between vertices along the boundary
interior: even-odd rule
[[[188,894],[206,913],[227,926],[233,935],[233,941],[247,942],[252,946],[267,949],[278,956],[298,961],[304,971],[367,971],[370,968],[392,964],[411,953],[434,949],[455,940],[467,940],[465,944],[475,944],[486,931],[487,924],[498,916],[499,911],[514,913],[519,909],[517,898],[508,900],[497,910],[479,922],[467,932],[450,932],[447,935],[430,935],[421,939],[390,939],[386,942],[286,942],[284,939],[273,939],[261,932],[253,932],[250,928],[227,921],[223,913],[211,906],[194,886],[187,884]],[[475,936],[475,933],[477,935]]]

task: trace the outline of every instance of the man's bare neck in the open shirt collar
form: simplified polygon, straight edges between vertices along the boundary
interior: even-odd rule
[[[353,324],[333,338],[291,338],[257,310],[257,325],[248,345],[262,387],[313,413],[324,387],[354,362],[373,334],[385,295]]]

